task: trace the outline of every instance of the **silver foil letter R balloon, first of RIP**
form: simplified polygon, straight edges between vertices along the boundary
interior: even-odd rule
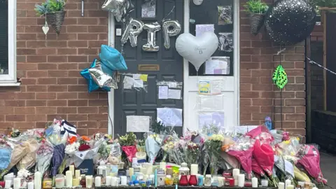
[[[141,20],[130,18],[130,22],[128,22],[128,24],[126,25],[123,36],[121,36],[121,43],[125,44],[130,38],[131,46],[137,46],[138,36],[139,34],[141,34],[143,28],[144,22],[141,22]]]

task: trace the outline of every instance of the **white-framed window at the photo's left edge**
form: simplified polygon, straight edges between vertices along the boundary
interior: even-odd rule
[[[17,83],[16,0],[0,0],[0,83]]]

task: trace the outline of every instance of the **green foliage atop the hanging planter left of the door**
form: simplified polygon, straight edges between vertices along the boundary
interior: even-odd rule
[[[37,15],[45,15],[46,13],[55,13],[57,11],[63,11],[66,0],[45,0],[41,5],[35,5],[35,11]]]

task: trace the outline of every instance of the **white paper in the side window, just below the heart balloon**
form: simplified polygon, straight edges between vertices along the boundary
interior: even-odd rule
[[[230,74],[230,57],[211,57],[204,65],[205,75]]]

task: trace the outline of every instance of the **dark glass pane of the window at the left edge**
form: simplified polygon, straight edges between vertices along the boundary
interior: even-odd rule
[[[0,74],[8,74],[8,3],[0,0]]]

